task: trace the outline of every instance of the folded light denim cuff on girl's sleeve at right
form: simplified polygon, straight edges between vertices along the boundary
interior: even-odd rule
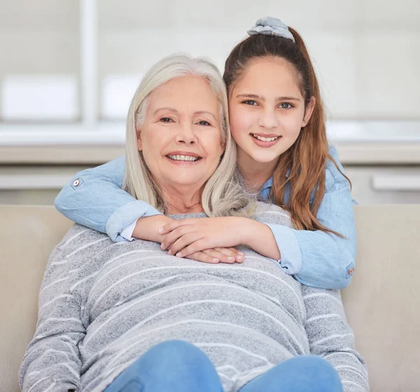
[[[283,225],[267,224],[267,226],[271,229],[279,247],[278,262],[281,269],[289,275],[299,274],[302,268],[302,255],[293,229]]]

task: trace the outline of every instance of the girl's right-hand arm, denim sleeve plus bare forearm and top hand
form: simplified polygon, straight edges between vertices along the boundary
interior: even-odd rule
[[[335,148],[330,148],[330,154],[339,162]],[[344,238],[321,231],[294,230],[287,225],[262,225],[246,218],[204,218],[166,225],[162,232],[166,235],[164,246],[186,257],[207,246],[244,244],[278,260],[284,272],[305,285],[344,288],[350,283],[356,258],[353,201],[349,182],[330,161],[325,175],[326,190],[317,217]]]

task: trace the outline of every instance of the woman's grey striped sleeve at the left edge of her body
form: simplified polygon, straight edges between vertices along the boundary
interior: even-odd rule
[[[39,294],[38,323],[20,367],[22,391],[80,391],[80,303],[69,288],[63,252],[52,252]]]

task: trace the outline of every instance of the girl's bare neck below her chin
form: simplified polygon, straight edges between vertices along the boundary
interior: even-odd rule
[[[279,158],[272,162],[255,162],[248,154],[238,149],[238,167],[248,192],[259,192],[274,174]]]

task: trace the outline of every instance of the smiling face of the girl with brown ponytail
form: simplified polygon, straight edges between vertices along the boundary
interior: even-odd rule
[[[278,160],[295,143],[313,109],[314,98],[305,110],[293,65],[279,57],[251,60],[229,97],[239,165]]]

